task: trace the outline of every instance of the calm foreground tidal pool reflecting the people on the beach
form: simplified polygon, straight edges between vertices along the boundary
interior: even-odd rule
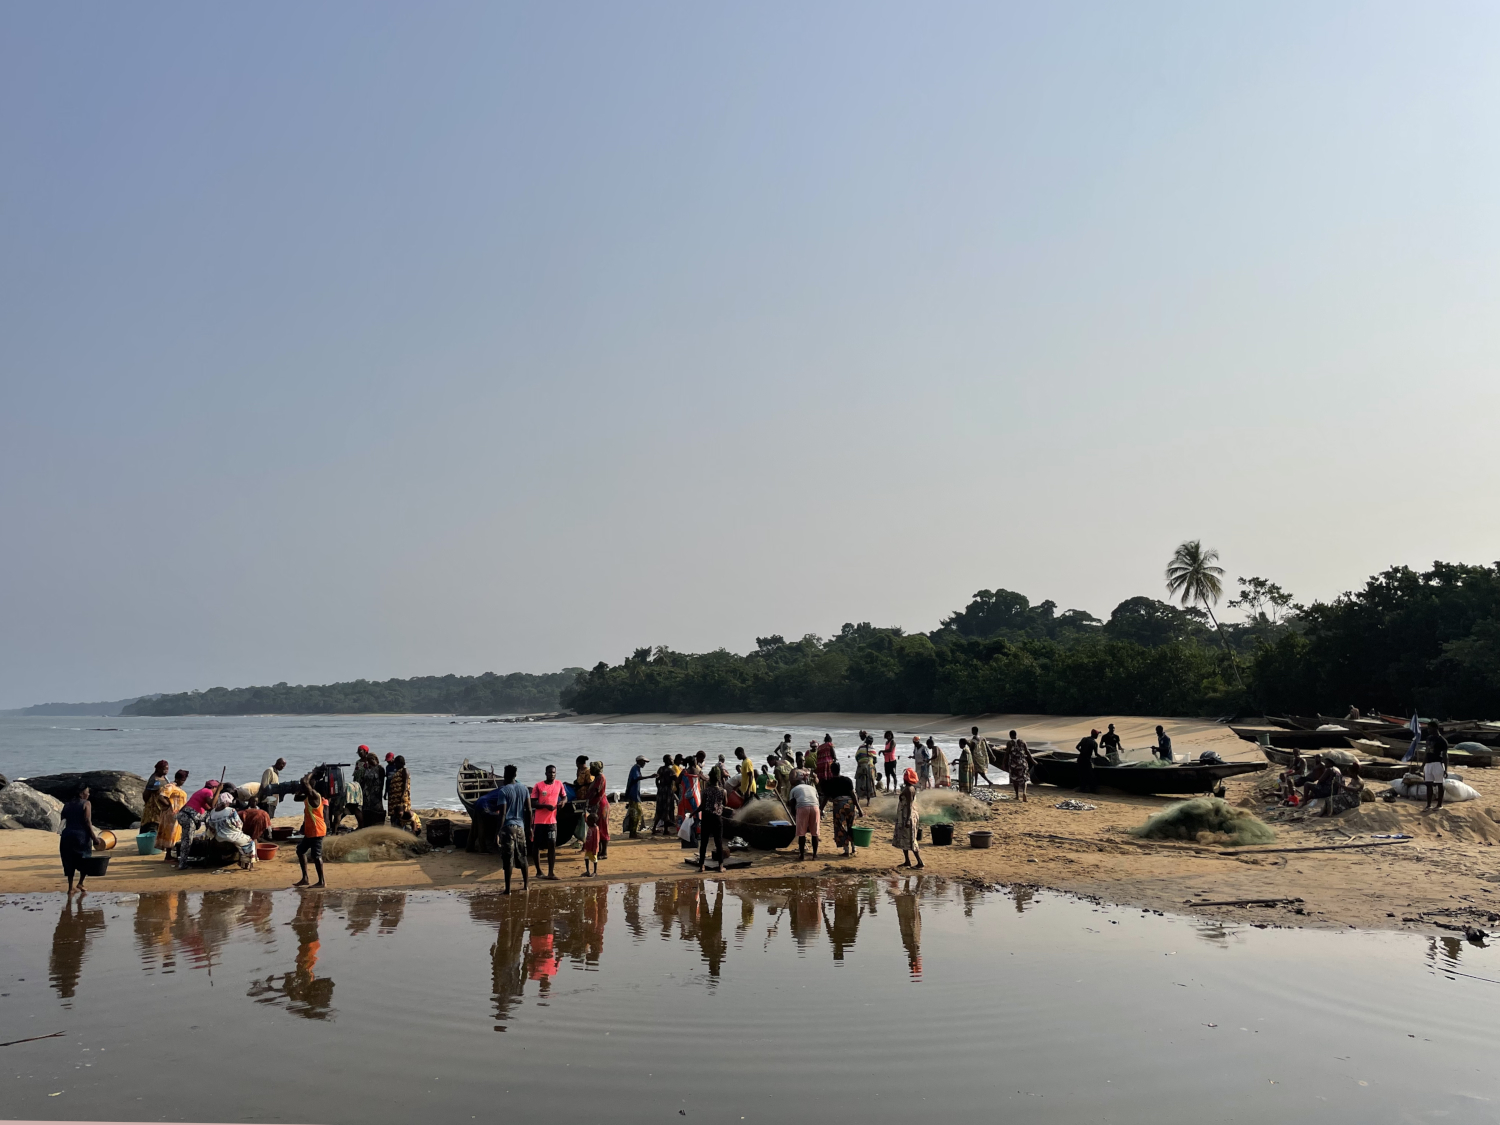
[[[1500,1119],[1490,950],[939,879],[8,896],[0,948],[12,1119]]]

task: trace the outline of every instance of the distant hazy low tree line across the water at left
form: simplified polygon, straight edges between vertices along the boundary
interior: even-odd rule
[[[582,672],[512,672],[478,676],[354,680],[348,684],[285,682],[272,687],[212,687],[207,692],[140,699],[128,716],[369,714],[374,711],[495,716],[555,711],[558,694]]]

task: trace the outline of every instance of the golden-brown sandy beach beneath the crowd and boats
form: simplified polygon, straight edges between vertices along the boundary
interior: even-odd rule
[[[891,728],[902,732],[957,735],[978,724],[987,736],[1016,726],[1034,742],[1071,744],[1090,726],[1114,722],[1126,746],[1143,746],[1158,720],[1140,717],[1058,717],[1058,716],[634,716],[634,722],[734,723],[770,726],[828,726],[850,729]],[[624,722],[622,718],[582,717],[570,722]],[[1256,760],[1258,748],[1239,740],[1227,728],[1206,720],[1160,720],[1173,735],[1179,759],[1204,748],[1227,759]],[[1494,772],[1494,778],[1491,778]],[[1424,812],[1420,802],[1377,801],[1338,818],[1310,818],[1294,812],[1292,819],[1275,822],[1274,844],[1230,849],[1221,844],[1144,843],[1128,836],[1130,828],[1166,808],[1174,798],[1128,796],[1104,790],[1083,796],[1096,806],[1090,812],[1070,812],[1056,804],[1077,796],[1050,786],[1034,788],[1030,801],[1002,800],[990,807],[988,819],[960,826],[956,846],[926,848],[924,858],[933,874],[984,884],[1034,885],[1088,896],[1110,903],[1143,909],[1200,914],[1262,926],[1320,926],[1390,928],[1454,934],[1464,924],[1485,927],[1500,915],[1496,879],[1500,840],[1500,771],[1467,770],[1466,782],[1480,792],[1480,800]],[[622,778],[610,778],[618,784]],[[1274,783],[1270,771],[1232,778],[1227,800],[1257,813],[1268,801],[1263,790]],[[1383,789],[1382,783],[1376,783]],[[1260,790],[1260,792],[1257,792]],[[1005,789],[1005,794],[1010,790]],[[460,816],[441,810],[462,824]],[[603,882],[693,879],[700,878],[682,862],[684,852],[674,838],[628,840],[621,832],[624,807],[610,816],[609,856],[602,864]],[[280,818],[278,824],[296,824]],[[818,861],[800,862],[795,852],[752,852],[753,866],[740,878],[778,878],[786,874],[890,873],[898,868],[902,854],[890,844],[890,825],[868,820],[874,831],[870,848],[852,858],[828,850]],[[990,849],[966,846],[963,831],[990,828]],[[1380,836],[1407,834],[1407,842],[1389,843]],[[1286,850],[1320,849],[1320,850]],[[1322,850],[1328,849],[1328,850]],[[578,882],[582,860],[576,849],[558,855],[558,876]],[[297,879],[291,848],[276,860],[261,862],[254,872],[226,867],[216,872],[177,872],[159,856],[140,856],[129,842],[112,852],[110,874],[90,886],[111,892],[164,890],[267,890],[290,886]],[[435,850],[412,860],[390,862],[330,862],[328,880],[338,890],[362,888],[472,888],[498,890],[502,873],[498,856],[464,850]],[[63,890],[57,861],[57,837],[38,831],[0,832],[0,892],[40,892]],[[519,886],[519,880],[516,882]],[[1274,906],[1208,903],[1275,898]],[[1300,900],[1300,902],[1290,902]],[[1456,927],[1456,928],[1454,928]]]

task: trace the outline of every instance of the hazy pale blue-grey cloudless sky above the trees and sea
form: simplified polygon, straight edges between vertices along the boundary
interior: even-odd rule
[[[1485,3],[4,4],[0,706],[1492,562],[1497,183]]]

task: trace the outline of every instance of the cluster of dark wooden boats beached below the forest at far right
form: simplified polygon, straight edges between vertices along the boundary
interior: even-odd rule
[[[1448,738],[1450,766],[1484,770],[1494,765],[1494,756],[1500,753],[1500,724],[1466,720],[1438,723],[1438,728]],[[1246,741],[1258,742],[1272,765],[1290,765],[1293,750],[1300,752],[1310,765],[1322,759],[1322,752],[1342,750],[1354,754],[1359,772],[1371,780],[1395,780],[1412,770],[1401,760],[1412,748],[1412,723],[1394,716],[1266,716],[1257,724],[1232,723],[1230,729]],[[1419,747],[1416,760],[1420,759]]]

